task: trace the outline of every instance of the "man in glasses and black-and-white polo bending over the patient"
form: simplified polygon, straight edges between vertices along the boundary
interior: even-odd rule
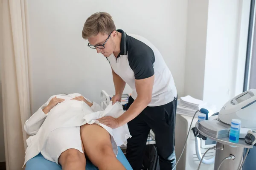
[[[99,122],[116,128],[128,123],[126,157],[134,170],[142,167],[150,129],[155,133],[161,170],[172,170],[175,157],[177,90],[172,74],[154,45],[145,38],[116,30],[110,14],[99,12],[84,23],[82,37],[88,46],[102,53],[111,65],[115,95],[121,101],[126,83],[132,94],[128,110],[119,118],[106,116]]]

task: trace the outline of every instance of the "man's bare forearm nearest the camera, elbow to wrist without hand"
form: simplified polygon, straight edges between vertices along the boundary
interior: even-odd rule
[[[150,102],[151,99],[135,99],[134,102],[129,107],[129,109],[118,118],[119,126],[125,125],[126,123],[134,119],[136,116],[138,116],[148,106]]]

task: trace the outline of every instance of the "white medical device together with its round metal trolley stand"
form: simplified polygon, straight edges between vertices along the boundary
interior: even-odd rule
[[[256,128],[255,110],[256,90],[250,89],[239,94],[233,99],[230,99],[221,108],[216,119],[204,120],[196,123],[198,135],[200,134],[208,139],[215,140],[217,142],[217,148],[223,148],[223,150],[216,150],[214,170],[217,170],[217,167],[219,167],[220,164],[222,164],[220,170],[241,169],[249,152],[248,149],[243,161],[241,162],[244,148],[253,147],[252,134],[254,133],[251,129]],[[240,139],[237,143],[230,142],[229,140],[232,119],[241,120]],[[246,137],[248,130],[251,130],[250,132],[252,132],[252,134],[248,133]],[[247,144],[246,140],[250,144]],[[235,156],[236,161],[223,161],[230,154]]]

